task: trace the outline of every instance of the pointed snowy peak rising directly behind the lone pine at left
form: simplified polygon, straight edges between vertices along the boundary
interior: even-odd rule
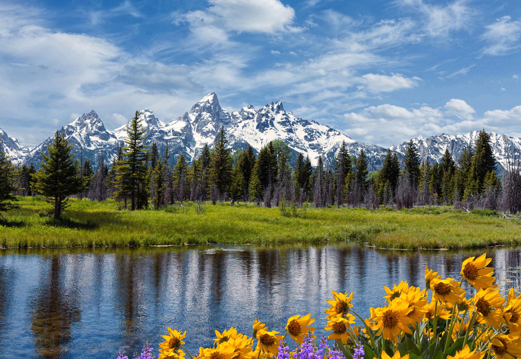
[[[65,138],[69,141],[69,145],[72,145],[72,153],[76,154],[78,160],[89,159],[93,165],[96,165],[103,152],[104,161],[108,161],[110,164],[117,154],[117,137],[112,131],[105,128],[94,110],[84,113],[71,124],[62,127],[61,131],[64,131]],[[23,162],[40,163],[42,161],[41,152],[47,154],[47,145],[51,144],[52,139],[49,137],[40,145],[32,148]]]

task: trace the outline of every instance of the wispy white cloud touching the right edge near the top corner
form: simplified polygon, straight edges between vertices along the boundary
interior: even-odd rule
[[[510,16],[503,16],[485,28],[487,31],[481,35],[481,39],[488,45],[483,47],[483,54],[507,55],[521,47],[521,22],[512,21]]]

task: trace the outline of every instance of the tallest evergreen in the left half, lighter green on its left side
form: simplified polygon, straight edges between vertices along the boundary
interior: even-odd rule
[[[127,125],[127,137],[122,148],[123,159],[116,165],[116,198],[130,198],[131,210],[141,209],[148,204],[148,146],[143,144],[146,138],[146,130],[140,119],[141,112],[136,111],[135,116]]]

